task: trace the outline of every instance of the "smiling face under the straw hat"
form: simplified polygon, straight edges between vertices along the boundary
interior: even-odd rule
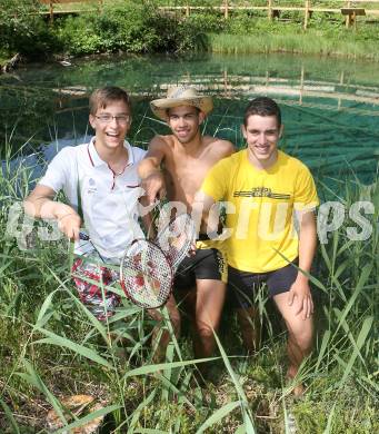
[[[182,144],[192,141],[200,136],[200,124],[205,114],[192,106],[180,106],[168,110],[168,125],[172,134]]]

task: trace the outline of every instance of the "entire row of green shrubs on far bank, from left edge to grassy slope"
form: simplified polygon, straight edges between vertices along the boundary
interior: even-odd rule
[[[201,29],[160,13],[153,4],[114,2],[101,13],[56,17],[37,14],[37,0],[0,0],[0,49],[11,56],[92,55],[100,52],[181,52],[203,47]]]

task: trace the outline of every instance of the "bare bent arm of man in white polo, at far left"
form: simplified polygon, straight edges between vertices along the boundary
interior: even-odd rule
[[[59,229],[70,239],[79,239],[81,218],[69,205],[54,201],[56,191],[47,186],[37,185],[26,198],[26,213],[36,218],[56,219]]]

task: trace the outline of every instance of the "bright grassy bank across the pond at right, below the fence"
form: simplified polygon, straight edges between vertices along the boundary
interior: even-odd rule
[[[171,4],[172,1],[158,0],[159,4]],[[176,4],[203,6],[201,1],[174,2]],[[207,6],[220,6],[221,1],[212,0]],[[243,1],[233,1],[233,6],[246,6]],[[258,1],[253,6],[267,6]],[[275,7],[300,7],[303,1],[278,1]],[[311,1],[313,8],[343,7],[341,2],[329,3]],[[378,9],[375,3],[360,3],[360,8]],[[279,19],[268,20],[267,11],[230,10],[229,19],[212,10],[192,11],[189,22],[200,24],[207,32],[208,50],[221,53],[252,52],[291,52],[300,55],[338,56],[349,59],[361,58],[379,60],[378,26],[375,17],[359,17],[356,28],[347,29],[345,17],[339,13],[313,12],[303,29],[303,12],[281,11]]]

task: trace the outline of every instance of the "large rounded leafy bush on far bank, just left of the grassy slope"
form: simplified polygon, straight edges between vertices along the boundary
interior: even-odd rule
[[[199,26],[164,16],[152,4],[116,3],[101,14],[70,17],[56,30],[66,52],[178,52],[201,43]]]

